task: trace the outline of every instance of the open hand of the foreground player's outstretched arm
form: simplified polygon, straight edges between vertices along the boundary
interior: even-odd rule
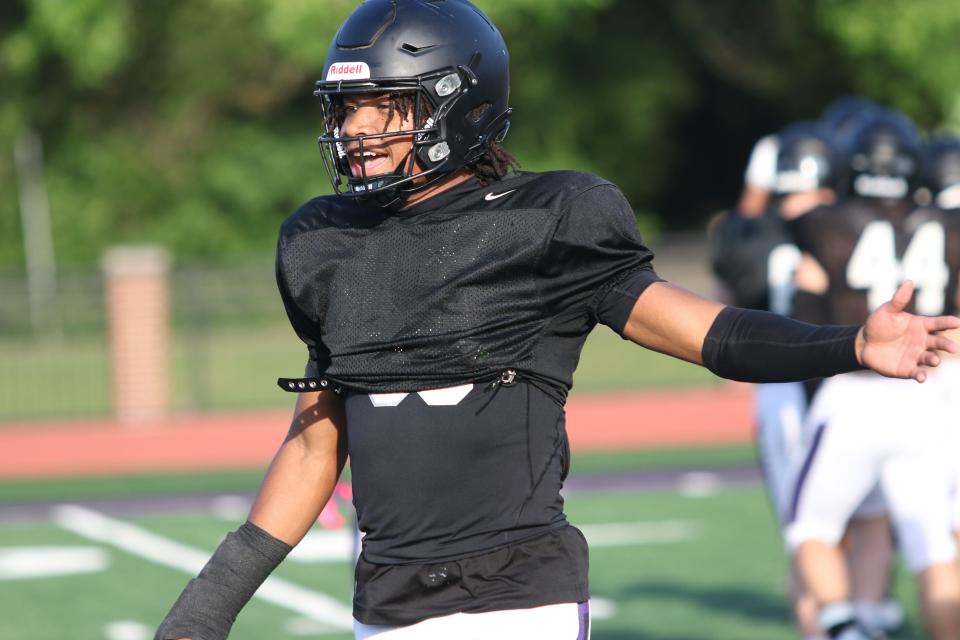
[[[870,314],[857,334],[857,359],[881,375],[923,382],[924,369],[940,364],[938,352],[958,352],[956,343],[937,332],[960,327],[960,318],[907,313],[912,296],[913,283],[907,280]]]

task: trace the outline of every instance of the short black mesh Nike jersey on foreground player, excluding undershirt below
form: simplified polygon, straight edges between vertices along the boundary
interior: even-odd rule
[[[277,280],[315,375],[417,391],[512,368],[562,397],[590,329],[621,330],[657,279],[635,224],[616,187],[572,171],[400,211],[326,196],[283,224]]]

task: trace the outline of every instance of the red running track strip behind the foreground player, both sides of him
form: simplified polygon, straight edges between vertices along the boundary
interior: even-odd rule
[[[181,416],[121,426],[110,421],[0,428],[0,480],[265,467],[286,434],[287,411]],[[753,437],[753,390],[574,395],[574,451],[709,446]]]

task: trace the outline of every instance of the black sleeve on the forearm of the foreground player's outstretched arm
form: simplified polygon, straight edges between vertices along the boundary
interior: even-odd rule
[[[856,371],[858,326],[814,325],[727,307],[703,342],[703,363],[742,382],[792,382]]]

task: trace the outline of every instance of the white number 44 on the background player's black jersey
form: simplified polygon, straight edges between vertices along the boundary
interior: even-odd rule
[[[939,315],[950,280],[944,259],[945,238],[943,225],[925,222],[914,232],[903,259],[898,260],[893,225],[871,222],[850,256],[847,284],[851,289],[867,290],[867,305],[872,311],[889,300],[902,281],[912,280],[917,289],[917,313]]]

